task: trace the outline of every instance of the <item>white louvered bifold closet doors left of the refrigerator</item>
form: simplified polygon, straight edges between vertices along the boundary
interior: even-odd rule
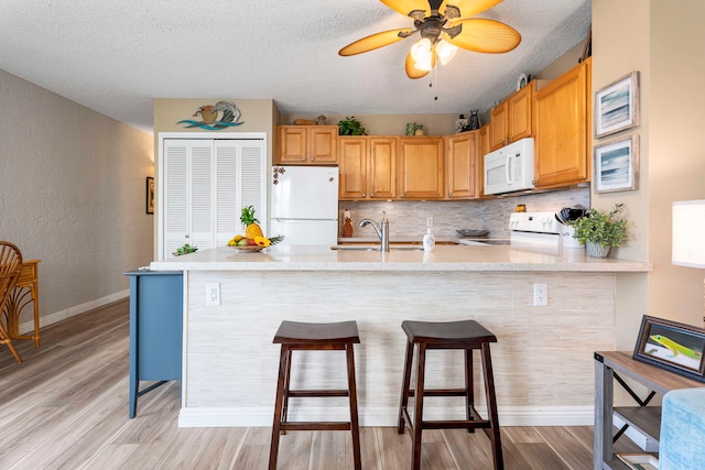
[[[240,212],[254,206],[267,233],[264,139],[165,139],[162,258],[191,243],[223,247],[243,233]]]

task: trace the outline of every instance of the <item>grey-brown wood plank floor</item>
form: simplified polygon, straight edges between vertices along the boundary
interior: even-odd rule
[[[128,303],[42,329],[42,347],[0,345],[0,469],[265,469],[270,428],[178,428],[180,391],[140,397],[128,418]],[[273,397],[272,397],[273,401]],[[424,470],[491,469],[484,433],[424,431]],[[362,428],[362,468],[408,469],[411,439]],[[507,469],[592,469],[592,427],[505,427]],[[638,448],[622,437],[618,451]],[[279,468],[352,468],[349,433],[282,437]]]

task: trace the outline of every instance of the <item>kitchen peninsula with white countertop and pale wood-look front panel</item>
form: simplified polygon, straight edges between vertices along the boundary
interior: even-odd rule
[[[644,313],[618,310],[629,305],[622,285],[652,267],[575,249],[553,255],[492,245],[389,253],[284,245],[261,253],[203,250],[151,269],[184,272],[178,424],[209,427],[271,426],[279,365],[272,339],[284,319],[357,321],[362,426],[395,425],[405,319],[475,319],[497,336],[491,353],[501,425],[590,425],[593,352],[615,350],[618,330],[633,326],[637,334]],[[546,284],[547,306],[533,305],[535,283]],[[218,285],[219,305],[206,305],[207,284]],[[345,383],[343,356],[303,351],[293,360],[292,387]],[[433,351],[426,382],[458,386],[462,362],[459,351]],[[455,400],[430,401],[425,418],[464,416]],[[347,409],[344,398],[303,406],[294,400],[290,416],[345,420]]]

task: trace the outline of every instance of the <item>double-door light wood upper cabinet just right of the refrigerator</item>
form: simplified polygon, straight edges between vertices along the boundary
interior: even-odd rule
[[[341,200],[397,198],[397,146],[393,136],[340,136],[338,168]]]

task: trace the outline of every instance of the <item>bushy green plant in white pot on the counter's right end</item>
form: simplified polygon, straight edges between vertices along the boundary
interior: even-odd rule
[[[586,247],[588,256],[605,258],[611,247],[619,247],[627,240],[627,220],[615,219],[623,207],[623,204],[616,204],[609,212],[590,208],[585,217],[566,221],[575,229],[573,237]]]

